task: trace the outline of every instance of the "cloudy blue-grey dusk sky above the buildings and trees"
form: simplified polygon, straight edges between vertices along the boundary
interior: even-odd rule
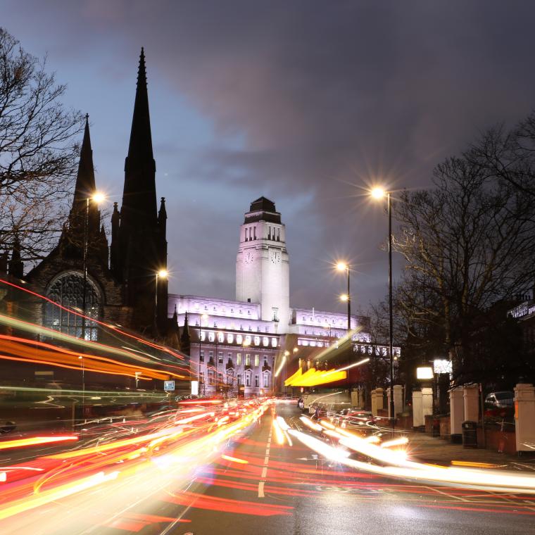
[[[386,291],[386,216],[365,184],[428,187],[433,166],[535,107],[530,1],[0,0],[89,113],[99,187],[120,201],[145,46],[171,290],[234,298],[238,227],[260,195],[287,225],[294,306]]]

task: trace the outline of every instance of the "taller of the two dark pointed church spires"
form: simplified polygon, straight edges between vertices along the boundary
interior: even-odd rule
[[[156,163],[152,151],[149,95],[147,94],[145,53],[141,49],[137,70],[136,99],[125,160],[125,187],[122,192],[121,225],[138,227],[156,222]]]

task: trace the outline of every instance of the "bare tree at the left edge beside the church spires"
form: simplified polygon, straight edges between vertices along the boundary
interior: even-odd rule
[[[24,260],[42,258],[61,230],[83,127],[45,66],[0,27],[0,249],[18,235]]]

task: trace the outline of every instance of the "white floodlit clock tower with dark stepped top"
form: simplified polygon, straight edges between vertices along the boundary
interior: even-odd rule
[[[290,285],[286,228],[275,203],[265,197],[251,203],[240,227],[236,298],[260,303],[261,319],[275,320],[279,333],[288,332]]]

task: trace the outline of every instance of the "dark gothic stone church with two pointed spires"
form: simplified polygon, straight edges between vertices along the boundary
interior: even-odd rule
[[[165,199],[156,200],[149,97],[141,49],[130,144],[125,160],[122,204],[114,203],[111,245],[96,201],[93,151],[86,116],[73,205],[57,246],[28,272],[38,294],[103,322],[164,339],[178,346],[178,326],[167,317],[168,282]],[[22,269],[19,270],[22,275]],[[12,275],[15,273],[12,272]],[[36,310],[35,322],[85,339],[98,339],[98,326],[56,306]],[[176,318],[175,318],[176,319]],[[173,343],[173,339],[175,343]]]

